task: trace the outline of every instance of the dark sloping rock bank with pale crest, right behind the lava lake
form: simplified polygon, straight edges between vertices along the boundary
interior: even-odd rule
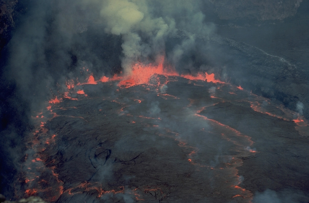
[[[233,39],[213,37],[199,39],[201,44],[216,47],[216,51],[201,49],[209,64],[207,71],[220,78],[241,85],[253,93],[282,102],[291,110],[303,108],[299,113],[309,118],[308,71],[305,64],[295,65],[280,56],[269,54],[260,48]]]

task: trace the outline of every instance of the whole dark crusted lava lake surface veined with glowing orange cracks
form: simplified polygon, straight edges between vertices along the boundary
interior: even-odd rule
[[[198,203],[309,192],[308,124],[297,113],[218,81],[118,82],[80,85],[33,116],[17,196]]]

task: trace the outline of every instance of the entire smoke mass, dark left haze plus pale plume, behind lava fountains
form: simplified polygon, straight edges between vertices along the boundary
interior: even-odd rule
[[[178,67],[214,25],[201,11],[203,2],[171,0],[23,1],[26,9],[8,44],[8,74],[32,109],[56,94],[66,79],[83,82],[123,71],[132,64],[156,62],[167,55]],[[170,38],[185,33],[173,44]],[[193,66],[193,60],[185,62]],[[89,70],[88,72],[82,71]],[[34,94],[34,95],[33,95]]]

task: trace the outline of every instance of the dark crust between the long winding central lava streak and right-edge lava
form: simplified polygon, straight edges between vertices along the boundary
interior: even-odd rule
[[[276,113],[280,114],[279,111]],[[309,172],[307,164],[304,163],[308,161],[306,154],[309,151],[305,149],[306,147],[297,146],[307,142],[308,139],[298,136],[294,122],[262,115],[246,106],[234,104],[234,102],[214,105],[202,111],[201,114],[252,137],[252,141],[255,142],[254,146],[259,146],[257,150],[260,153],[252,157],[240,157],[244,163],[243,166],[238,167],[239,173],[255,174],[254,176],[244,175],[243,184],[248,185],[246,188],[251,191],[265,191],[266,189],[278,191],[296,187],[300,190],[307,190]],[[233,119],[222,115],[233,115]],[[256,119],[258,117],[264,118]],[[298,174],[299,177],[295,178],[293,174]],[[256,177],[263,176],[267,177],[267,181],[263,178],[256,179]]]

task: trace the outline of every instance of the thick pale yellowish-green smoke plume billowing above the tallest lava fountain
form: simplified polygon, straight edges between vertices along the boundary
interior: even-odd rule
[[[120,35],[123,40],[122,67],[125,73],[130,73],[137,60],[164,54],[167,36],[176,33],[177,29],[209,35],[213,26],[204,23],[205,15],[199,10],[199,5],[198,1],[105,1],[100,17],[105,25],[104,31]],[[180,13],[183,20],[178,18]],[[192,36],[174,49],[174,63],[184,49],[189,48],[188,43],[194,43]]]

